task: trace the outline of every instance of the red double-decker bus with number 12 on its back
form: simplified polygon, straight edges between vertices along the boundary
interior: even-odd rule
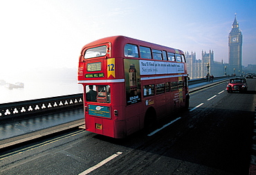
[[[183,51],[138,39],[86,44],[77,78],[84,87],[86,131],[104,136],[125,138],[189,105]]]

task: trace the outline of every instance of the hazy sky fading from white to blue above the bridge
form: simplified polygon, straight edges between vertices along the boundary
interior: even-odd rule
[[[0,73],[76,67],[82,46],[113,35],[193,51],[197,59],[214,50],[215,61],[228,62],[235,13],[242,64],[256,64],[255,0],[0,1]]]

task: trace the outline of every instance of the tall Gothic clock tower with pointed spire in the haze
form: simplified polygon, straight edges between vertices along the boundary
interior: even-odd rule
[[[235,20],[232,24],[232,30],[228,36],[228,62],[229,68],[228,72],[236,73],[237,75],[241,73],[241,45],[243,36],[241,35],[241,30],[237,22],[237,16],[235,15]]]

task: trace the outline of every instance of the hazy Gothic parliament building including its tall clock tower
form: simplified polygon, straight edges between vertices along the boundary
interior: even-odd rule
[[[209,50],[209,53],[202,51],[201,59],[196,59],[196,53],[185,52],[187,60],[188,74],[191,79],[201,78],[208,75],[214,77],[223,75],[243,75],[244,71],[241,66],[241,48],[243,36],[239,29],[237,17],[232,24],[232,29],[228,35],[228,63],[215,62],[214,52]]]

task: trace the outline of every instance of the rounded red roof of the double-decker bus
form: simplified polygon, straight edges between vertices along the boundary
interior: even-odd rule
[[[171,53],[179,53],[179,54],[183,54],[182,50],[176,49],[176,48],[170,48],[167,46],[161,46],[159,44],[153,44],[151,42],[145,42],[139,39],[134,39],[131,37],[125,37],[122,35],[118,35],[118,36],[113,36],[113,37],[104,37],[102,39],[98,39],[95,40],[94,42],[91,42],[89,44],[86,44],[82,50],[84,50],[84,48],[86,47],[91,47],[91,46],[95,46],[98,44],[104,44],[104,43],[111,43],[113,45],[118,44],[119,46],[125,46],[125,44],[136,44],[138,46],[146,46],[146,47],[150,47],[152,49],[158,49],[158,50],[166,50],[167,52],[171,52]]]

